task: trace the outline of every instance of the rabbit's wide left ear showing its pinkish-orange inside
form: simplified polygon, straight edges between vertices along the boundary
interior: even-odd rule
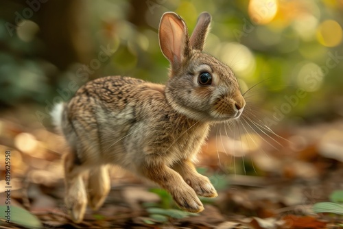
[[[172,69],[180,67],[190,52],[189,37],[185,21],[174,12],[163,14],[158,38],[163,55],[169,60]]]

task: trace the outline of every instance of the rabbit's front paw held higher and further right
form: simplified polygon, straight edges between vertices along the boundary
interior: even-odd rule
[[[191,186],[198,195],[204,197],[217,197],[217,191],[211,184],[209,178],[206,176],[198,175],[186,179],[187,184]]]

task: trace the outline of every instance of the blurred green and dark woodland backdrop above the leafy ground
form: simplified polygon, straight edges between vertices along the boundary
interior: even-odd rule
[[[259,83],[258,106],[273,111],[301,88],[306,95],[287,119],[342,116],[340,0],[1,2],[1,106],[49,106],[105,75],[163,83],[161,15],[180,14],[192,31],[206,10],[213,23],[205,51],[234,69],[243,92]]]

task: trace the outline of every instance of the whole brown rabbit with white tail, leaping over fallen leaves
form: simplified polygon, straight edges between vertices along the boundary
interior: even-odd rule
[[[217,196],[193,161],[210,126],[237,119],[246,102],[233,71],[202,52],[210,23],[211,15],[202,12],[189,37],[178,14],[163,14],[159,45],[171,67],[165,85],[101,77],[56,106],[54,123],[71,148],[64,155],[64,201],[73,221],[82,221],[87,202],[95,210],[104,203],[109,165],[156,182],[191,213],[204,210],[197,195]]]

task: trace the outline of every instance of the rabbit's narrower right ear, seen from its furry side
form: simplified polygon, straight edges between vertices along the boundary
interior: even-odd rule
[[[211,23],[211,15],[208,12],[202,12],[198,17],[196,28],[191,35],[191,47],[202,51],[204,48],[205,38],[209,32],[209,25]]]

